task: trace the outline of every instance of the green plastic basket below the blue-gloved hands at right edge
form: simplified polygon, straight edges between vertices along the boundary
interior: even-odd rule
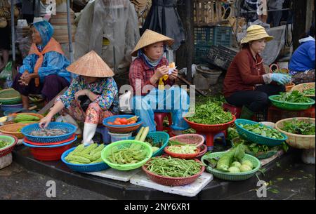
[[[315,100],[312,100],[311,98],[308,98],[310,102],[282,102],[279,100],[276,100],[275,98],[278,98],[280,95],[270,95],[269,100],[272,102],[272,105],[275,105],[275,107],[278,107],[279,109],[289,110],[289,111],[300,111],[309,109],[312,107],[312,105],[315,104]]]

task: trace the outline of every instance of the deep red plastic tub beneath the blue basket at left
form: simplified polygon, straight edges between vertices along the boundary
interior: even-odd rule
[[[34,159],[39,161],[59,161],[62,153],[67,151],[72,147],[72,143],[69,145],[65,145],[62,147],[52,147],[52,148],[41,148],[41,147],[30,147],[29,150],[31,151]]]

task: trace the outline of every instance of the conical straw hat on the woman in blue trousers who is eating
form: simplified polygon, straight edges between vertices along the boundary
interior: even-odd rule
[[[137,56],[137,51],[140,48],[143,48],[145,46],[149,46],[151,44],[155,44],[159,41],[166,41],[168,46],[172,46],[174,43],[174,40],[169,38],[168,36],[164,36],[162,34],[158,34],[157,32],[154,32],[150,29],[146,29],[143,35],[140,37],[136,47],[134,48],[133,52],[131,53],[132,56]]]

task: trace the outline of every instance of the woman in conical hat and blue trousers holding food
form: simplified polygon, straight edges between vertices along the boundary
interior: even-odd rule
[[[171,46],[173,39],[146,29],[131,53],[137,58],[129,69],[129,81],[133,87],[131,109],[144,126],[155,131],[154,112],[171,112],[173,131],[188,128],[183,116],[188,112],[189,96],[179,86],[173,85],[178,70],[174,63],[169,66],[164,57],[166,45]]]

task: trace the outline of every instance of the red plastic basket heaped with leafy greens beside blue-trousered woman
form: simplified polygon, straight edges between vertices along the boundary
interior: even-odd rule
[[[185,117],[183,117],[183,119],[185,119],[187,124],[189,124],[189,126],[193,129],[195,129],[196,131],[200,131],[200,132],[204,132],[204,133],[205,132],[220,133],[220,131],[226,130],[229,126],[232,125],[232,123],[235,122],[236,116],[234,114],[232,114],[232,121],[229,121],[228,123],[221,123],[221,124],[214,124],[214,125],[205,125],[205,124],[201,124],[201,123],[194,123],[192,121],[189,121]]]

